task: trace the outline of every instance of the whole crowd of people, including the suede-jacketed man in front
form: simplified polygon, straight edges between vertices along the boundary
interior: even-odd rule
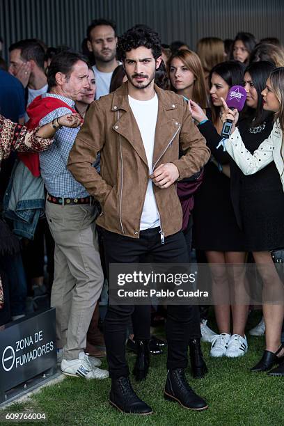
[[[213,357],[246,354],[250,303],[223,301],[231,281],[235,297],[246,292],[242,268],[232,276],[229,266],[254,262],[263,319],[251,334],[265,333],[265,351],[251,372],[283,377],[284,289],[271,256],[284,248],[279,40],[239,32],[203,38],[194,52],[184,41],[161,44],[145,25],[118,37],[114,22],[96,19],[82,52],[37,39],[9,52],[0,62],[0,324],[50,295],[63,374],[111,377],[113,407],[150,414],[129,380],[125,342],[137,381],[167,345],[164,397],[203,410],[184,374],[188,348],[200,378],[201,339]],[[246,90],[241,113],[225,101],[235,85]],[[209,265],[200,279],[212,283],[216,332],[208,306],[103,309],[111,263],[186,264],[193,253]],[[272,293],[279,303],[267,302]],[[166,340],[150,334],[163,315]]]

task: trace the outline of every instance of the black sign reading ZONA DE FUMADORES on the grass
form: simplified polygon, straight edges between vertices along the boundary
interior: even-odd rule
[[[0,330],[0,390],[56,367],[55,309],[24,317]]]

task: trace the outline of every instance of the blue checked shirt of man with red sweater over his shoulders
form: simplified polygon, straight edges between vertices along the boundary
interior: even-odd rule
[[[45,93],[42,98],[52,96],[56,97],[70,107],[74,108],[74,101],[68,97],[55,95],[54,93]],[[68,108],[57,108],[42,118],[40,125],[50,123],[54,118],[61,117],[70,113]],[[69,152],[80,127],[70,129],[62,127],[57,130],[54,136],[54,143],[44,152],[40,152],[40,173],[45,182],[45,187],[49,194],[54,197],[63,198],[82,198],[89,196],[86,189],[77,180],[74,180],[72,174],[66,168]]]

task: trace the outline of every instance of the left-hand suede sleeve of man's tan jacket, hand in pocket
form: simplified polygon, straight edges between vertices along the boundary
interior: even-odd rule
[[[97,153],[105,143],[104,113],[99,101],[90,105],[86,112],[84,125],[81,127],[74,145],[70,150],[67,168],[74,178],[80,182],[91,196],[103,206],[111,191],[111,185],[97,173],[93,163]]]

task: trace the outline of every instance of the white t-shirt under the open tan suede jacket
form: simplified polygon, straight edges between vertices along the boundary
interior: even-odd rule
[[[157,93],[149,101],[139,101],[131,96],[128,96],[128,100],[140,130],[150,175],[152,173],[155,130],[158,116]],[[152,180],[149,179],[140,221],[140,230],[156,228],[156,226],[160,226],[159,212],[154,196]]]

